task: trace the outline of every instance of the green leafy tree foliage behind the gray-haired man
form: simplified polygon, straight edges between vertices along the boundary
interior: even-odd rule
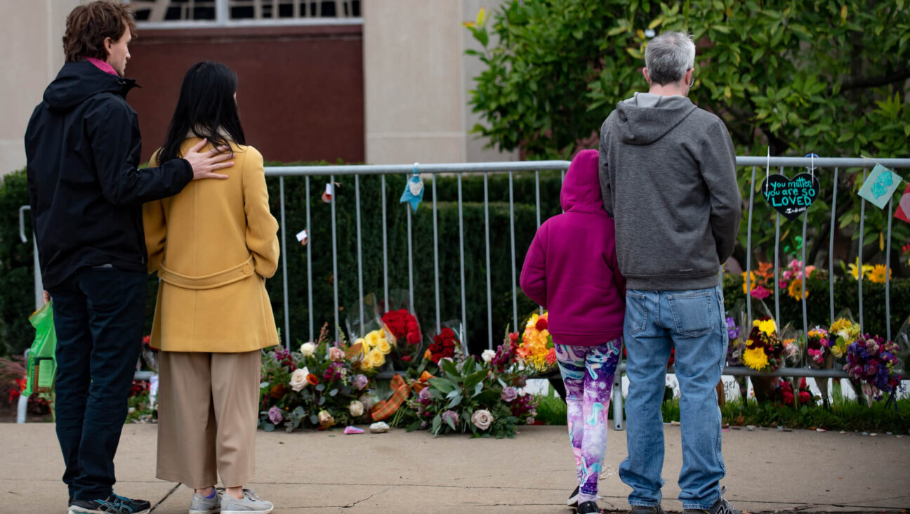
[[[772,155],[906,156],[910,9],[903,0],[512,0],[468,28],[482,46],[469,53],[484,65],[471,92],[483,119],[474,132],[530,158],[595,146],[613,106],[646,90],[646,30],[693,34],[690,97],[723,118],[738,155],[763,156],[770,146]],[[808,213],[810,262],[828,237],[832,171],[819,170],[822,195]],[[887,213],[867,208],[859,233],[857,175],[862,170],[840,170],[836,237],[862,239],[864,255],[875,257],[885,251]],[[750,179],[741,171],[745,200]],[[752,186],[760,183],[756,176]],[[763,200],[754,207],[753,248],[767,258],[774,211]],[[746,228],[743,217],[741,261]],[[801,228],[784,220],[782,247],[794,245]],[[908,238],[910,227],[896,224],[891,249]],[[843,251],[853,259],[855,248]]]

